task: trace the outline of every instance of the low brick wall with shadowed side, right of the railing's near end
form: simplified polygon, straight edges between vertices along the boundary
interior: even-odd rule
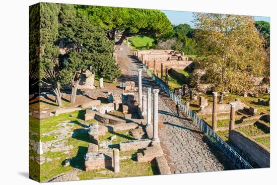
[[[231,131],[229,141],[246,153],[260,167],[270,167],[270,150],[264,145],[236,130]]]

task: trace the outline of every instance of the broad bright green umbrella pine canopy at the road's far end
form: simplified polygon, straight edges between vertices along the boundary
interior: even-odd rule
[[[120,45],[126,37],[145,35],[152,38],[166,38],[173,34],[167,16],[159,10],[117,7],[76,6],[77,13],[89,17],[94,25],[108,30],[107,37]]]

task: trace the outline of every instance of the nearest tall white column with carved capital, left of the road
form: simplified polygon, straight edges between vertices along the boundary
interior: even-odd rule
[[[160,89],[154,89],[154,99],[153,99],[153,141],[159,140],[158,137],[158,109],[159,109],[159,91]]]

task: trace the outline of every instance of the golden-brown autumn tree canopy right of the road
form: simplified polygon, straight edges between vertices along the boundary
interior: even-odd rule
[[[207,80],[223,92],[243,92],[250,88],[249,77],[264,75],[263,38],[253,17],[194,14],[199,54],[196,61],[206,70]]]

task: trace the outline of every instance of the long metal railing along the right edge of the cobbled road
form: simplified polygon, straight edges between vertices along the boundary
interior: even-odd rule
[[[176,94],[170,91],[170,89],[157,78],[152,72],[143,65],[147,74],[160,86],[160,88],[177,104],[179,104],[184,110],[185,114],[192,119],[199,129],[213,142],[221,151],[231,160],[239,169],[251,169],[253,168],[245,159],[243,159],[230,145],[228,145],[221,137],[219,137],[195,112],[190,110],[182,99]]]

